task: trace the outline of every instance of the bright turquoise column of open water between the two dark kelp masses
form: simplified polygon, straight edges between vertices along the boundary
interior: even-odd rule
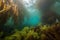
[[[35,25],[39,24],[41,21],[40,11],[35,7],[34,3],[35,3],[35,0],[30,1],[30,2],[29,2],[29,0],[26,0],[24,3],[24,6],[28,11],[28,13],[26,14],[28,16],[24,17],[25,25],[35,26]]]

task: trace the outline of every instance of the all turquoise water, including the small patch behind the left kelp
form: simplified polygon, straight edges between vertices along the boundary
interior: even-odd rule
[[[41,23],[41,12],[36,8],[34,5],[35,0],[25,0],[24,2],[24,8],[26,9],[26,12],[23,12],[24,19],[22,17],[22,23],[20,23],[19,19],[19,27],[22,26],[36,26],[39,23]],[[24,10],[24,9],[23,9]],[[5,25],[12,26],[14,25],[13,18],[10,17]]]

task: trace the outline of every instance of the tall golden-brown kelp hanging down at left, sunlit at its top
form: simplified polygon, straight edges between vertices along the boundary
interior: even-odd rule
[[[9,4],[8,4],[8,3]],[[13,20],[15,21],[15,26],[18,24],[18,8],[13,3],[13,1],[9,0],[0,0],[0,31],[3,31],[4,35],[2,35],[2,38],[4,38],[5,35],[8,35],[9,31],[12,29],[10,27],[5,27],[5,23],[7,20],[12,16]],[[10,29],[10,30],[8,30]],[[6,34],[8,33],[8,34]]]

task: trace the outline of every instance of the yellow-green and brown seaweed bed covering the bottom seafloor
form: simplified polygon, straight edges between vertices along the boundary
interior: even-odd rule
[[[2,36],[3,32],[0,35]],[[21,31],[15,29],[14,33],[5,36],[4,40],[60,40],[60,23],[35,28],[25,27]]]

